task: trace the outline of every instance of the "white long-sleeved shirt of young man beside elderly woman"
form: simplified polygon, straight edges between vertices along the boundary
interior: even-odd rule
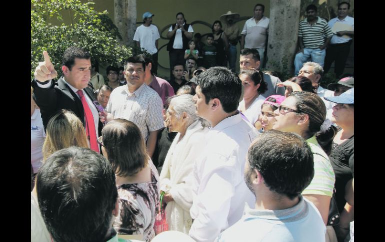
[[[245,156],[257,131],[238,113],[219,122],[206,136],[207,145],[195,160],[191,174],[193,192],[188,235],[212,242],[242,217],[245,203],[255,207],[255,197],[243,180]]]

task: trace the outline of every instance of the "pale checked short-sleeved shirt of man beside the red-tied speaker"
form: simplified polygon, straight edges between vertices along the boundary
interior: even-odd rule
[[[144,141],[147,140],[149,132],[164,127],[162,109],[159,95],[145,84],[132,93],[128,91],[127,85],[116,87],[105,107],[105,111],[111,113],[114,118],[124,118],[136,124]]]

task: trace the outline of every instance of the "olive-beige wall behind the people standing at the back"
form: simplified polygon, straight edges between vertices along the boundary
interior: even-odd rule
[[[86,0],[84,0],[86,1]],[[94,0],[94,8],[97,11],[107,10],[112,21],[114,20],[114,1],[113,0]],[[301,6],[304,8],[307,4],[312,2],[311,0],[302,0]],[[326,10],[324,7],[325,3],[328,3],[329,10]],[[319,0],[319,15],[321,17],[328,18],[333,17],[332,14],[336,12],[336,4],[338,0]],[[241,17],[252,16],[253,6],[256,3],[262,3],[265,5],[265,16],[269,17],[269,0],[137,0],[137,22],[142,21],[142,14],[146,11],[149,11],[155,16],[153,17],[152,23],[155,24],[159,33],[162,36],[159,39],[159,47],[168,43],[168,40],[165,39],[165,35],[168,31],[168,28],[160,32],[163,28],[169,27],[170,24],[175,21],[175,14],[179,11],[184,13],[187,23],[193,21],[204,21],[212,24],[214,20],[219,19],[221,14],[226,13],[228,10],[232,12],[238,12]],[[354,1],[350,0],[350,14],[354,14]],[[323,10],[321,10],[323,6]],[[334,12],[330,11],[330,6],[333,8]],[[303,14],[303,13],[302,13]],[[301,14],[301,15],[302,15]],[[64,16],[65,17],[65,16]],[[245,20],[237,22],[240,31],[242,30]],[[137,24],[139,26],[141,23]],[[197,23],[193,25],[194,32],[199,32],[201,34],[211,32],[210,27]],[[239,53],[239,44],[237,45],[237,53]],[[239,58],[239,57],[238,57]],[[159,64],[168,68],[168,51],[166,47],[160,49],[159,51]],[[238,63],[238,60],[237,62]],[[101,72],[102,73],[102,72]],[[169,77],[169,70],[158,68],[158,74],[160,76]]]

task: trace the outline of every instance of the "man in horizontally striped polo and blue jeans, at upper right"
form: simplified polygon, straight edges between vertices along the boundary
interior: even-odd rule
[[[323,67],[325,48],[333,36],[327,21],[317,16],[317,7],[314,4],[306,7],[306,16],[299,22],[299,50],[294,59],[294,75],[298,74],[303,63],[307,61],[316,62]]]

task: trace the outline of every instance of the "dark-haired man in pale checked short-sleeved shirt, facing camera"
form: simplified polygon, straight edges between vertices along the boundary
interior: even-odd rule
[[[111,92],[105,112],[100,118],[107,122],[113,118],[124,118],[136,124],[151,157],[157,132],[163,128],[163,104],[159,95],[144,84],[144,73],[143,56],[137,55],[127,59],[124,65],[127,84],[116,87]]]

